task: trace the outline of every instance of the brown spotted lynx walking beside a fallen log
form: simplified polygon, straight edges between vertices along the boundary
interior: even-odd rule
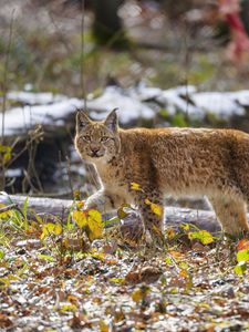
[[[100,211],[122,204],[137,206],[146,230],[156,239],[164,196],[206,196],[222,230],[248,231],[249,135],[235,129],[118,127],[114,110],[94,122],[76,115],[75,147],[82,159],[95,166],[101,189],[85,208]],[[131,186],[137,184],[136,190]]]

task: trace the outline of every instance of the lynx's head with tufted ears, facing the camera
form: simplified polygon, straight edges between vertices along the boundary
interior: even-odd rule
[[[101,122],[90,120],[80,111],[76,115],[75,146],[85,162],[112,160],[121,148],[116,108]]]

